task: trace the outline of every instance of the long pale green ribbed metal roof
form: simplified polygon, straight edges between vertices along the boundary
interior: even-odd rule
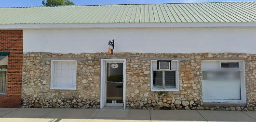
[[[256,1],[0,8],[0,24],[256,22]]]

